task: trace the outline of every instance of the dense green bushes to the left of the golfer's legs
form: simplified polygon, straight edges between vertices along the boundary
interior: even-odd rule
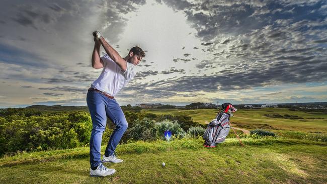
[[[15,109],[0,118],[0,155],[37,149],[66,149],[90,141],[92,121],[84,111],[43,113]],[[26,117],[25,114],[29,116]]]

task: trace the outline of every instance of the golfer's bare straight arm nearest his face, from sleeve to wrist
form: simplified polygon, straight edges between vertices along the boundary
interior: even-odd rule
[[[126,71],[127,62],[118,54],[114,48],[112,48],[111,45],[109,45],[109,43],[103,37],[100,37],[99,41],[109,57],[111,57],[111,59],[113,59],[123,71]]]

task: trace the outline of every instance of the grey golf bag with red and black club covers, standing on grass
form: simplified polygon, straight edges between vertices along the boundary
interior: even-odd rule
[[[229,118],[232,116],[231,113],[236,112],[237,109],[230,103],[225,103],[221,106],[222,111],[208,124],[203,134],[205,141],[203,146],[205,147],[216,147],[216,144],[223,142],[229,133]]]

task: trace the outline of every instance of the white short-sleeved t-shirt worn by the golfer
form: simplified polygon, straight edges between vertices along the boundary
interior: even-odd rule
[[[104,64],[103,70],[98,79],[91,84],[91,87],[115,97],[120,89],[134,78],[136,74],[135,65],[127,62],[127,68],[124,72],[108,54],[102,56],[101,59]]]

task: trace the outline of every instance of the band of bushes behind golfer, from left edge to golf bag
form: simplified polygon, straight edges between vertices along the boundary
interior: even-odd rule
[[[132,108],[126,106],[126,108]],[[40,112],[27,109],[6,109],[0,113],[0,156],[17,151],[67,149],[88,146],[92,130],[90,114],[85,111]],[[125,111],[129,128],[122,142],[151,141],[163,138],[170,130],[182,138],[192,126],[201,126],[187,115],[155,115]],[[103,144],[114,129],[107,121]]]

